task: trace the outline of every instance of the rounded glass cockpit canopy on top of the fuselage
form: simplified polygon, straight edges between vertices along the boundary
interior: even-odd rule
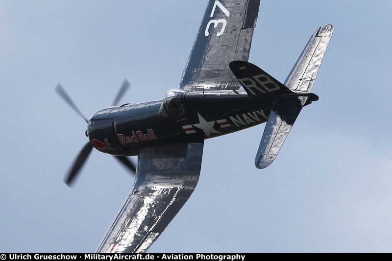
[[[170,117],[181,117],[186,113],[185,94],[180,89],[169,90],[163,98],[163,108]]]

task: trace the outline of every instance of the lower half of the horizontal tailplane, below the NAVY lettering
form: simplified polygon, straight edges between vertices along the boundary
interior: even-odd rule
[[[280,99],[273,104],[255,158],[257,168],[266,168],[275,160],[301,109],[301,99],[297,97]]]

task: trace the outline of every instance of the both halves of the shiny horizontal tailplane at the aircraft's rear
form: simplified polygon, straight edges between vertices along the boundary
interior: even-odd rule
[[[275,101],[255,158],[258,168],[265,168],[275,160],[303,106],[317,100],[310,93],[333,33],[331,24],[321,26],[310,38],[293,70],[285,81],[298,97]],[[300,95],[303,96],[300,96]]]

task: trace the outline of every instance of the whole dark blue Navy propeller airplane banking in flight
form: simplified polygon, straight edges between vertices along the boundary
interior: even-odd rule
[[[282,84],[248,61],[260,0],[208,0],[179,86],[162,100],[117,105],[86,119],[89,141],[66,177],[71,186],[93,147],[115,156],[135,182],[97,253],[145,253],[195,190],[205,140],[266,123],[255,166],[275,160],[311,93],[334,27],[319,27]],[[240,90],[243,87],[244,90]],[[137,156],[137,166],[127,157]]]

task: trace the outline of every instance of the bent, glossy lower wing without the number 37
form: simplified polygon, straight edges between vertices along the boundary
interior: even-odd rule
[[[195,190],[203,142],[140,149],[136,179],[97,253],[144,253]]]

